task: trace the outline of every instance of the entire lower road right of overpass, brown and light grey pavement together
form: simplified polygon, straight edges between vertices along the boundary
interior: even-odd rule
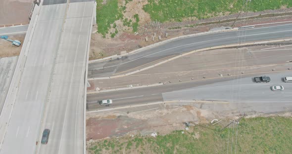
[[[160,101],[177,100],[208,100],[228,101],[234,104],[255,104],[259,111],[266,108],[270,103],[282,103],[281,109],[291,106],[292,83],[285,83],[282,77],[292,76],[291,72],[268,74],[271,77],[269,83],[255,83],[252,77],[257,75],[245,75],[243,78],[222,77],[200,81],[166,84],[160,86],[102,92],[87,96],[88,111],[146,104]],[[258,75],[260,76],[260,75]],[[284,91],[272,91],[271,86],[283,85]],[[110,106],[101,106],[98,100],[112,99]],[[221,107],[220,107],[221,106]],[[224,106],[218,105],[217,110],[225,110]],[[283,110],[277,111],[283,111]],[[269,109],[273,112],[276,110]]]

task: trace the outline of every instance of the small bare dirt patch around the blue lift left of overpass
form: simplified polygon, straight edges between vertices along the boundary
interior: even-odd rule
[[[8,39],[17,39],[23,43],[25,34],[8,36]],[[20,54],[22,44],[20,46],[12,45],[12,42],[0,39],[0,57],[12,57]]]

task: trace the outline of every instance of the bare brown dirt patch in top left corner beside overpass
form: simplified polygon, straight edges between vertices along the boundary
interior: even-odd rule
[[[0,0],[0,26],[27,24],[33,0]]]

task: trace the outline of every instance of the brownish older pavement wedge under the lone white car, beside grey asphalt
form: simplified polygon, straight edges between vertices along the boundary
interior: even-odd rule
[[[243,75],[243,77],[249,77],[249,76],[253,76],[253,75]],[[216,82],[221,82],[221,81],[228,81],[228,80],[232,80],[233,78],[234,77],[222,77],[222,78],[214,78],[214,79],[204,79],[204,80],[199,80],[199,81],[165,84],[165,85],[146,87],[146,88],[137,88],[137,89],[89,94],[87,95],[87,109],[88,111],[92,111],[96,109],[109,108],[109,107],[101,106],[98,104],[98,101],[105,100],[105,99],[113,100],[113,104],[110,105],[110,108],[164,101],[163,96],[162,96],[163,93],[172,92],[175,90],[193,88],[196,86],[206,85],[206,84],[211,84],[211,83],[216,83]]]

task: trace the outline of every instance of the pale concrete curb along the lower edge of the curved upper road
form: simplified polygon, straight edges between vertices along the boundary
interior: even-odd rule
[[[292,40],[292,38],[291,38],[291,39],[275,39],[275,40],[254,41],[254,42],[247,42],[247,43],[238,43],[238,44],[229,44],[229,45],[219,45],[219,46],[207,47],[207,48],[197,49],[197,50],[193,50],[193,51],[190,51],[190,52],[187,52],[187,53],[183,53],[183,54],[178,55],[178,56],[176,56],[176,57],[173,57],[173,58],[167,59],[167,60],[162,61],[162,62],[159,62],[159,63],[157,63],[157,64],[153,64],[153,65],[151,65],[151,66],[145,67],[145,68],[140,69],[140,70],[136,70],[136,71],[134,71],[134,72],[126,73],[126,74],[124,74],[124,75],[111,76],[111,77],[94,77],[94,78],[88,78],[88,80],[109,79],[109,78],[117,78],[117,77],[126,77],[126,76],[129,76],[129,75],[132,75],[132,74],[135,74],[135,73],[138,73],[138,72],[144,71],[144,70],[148,70],[148,69],[150,69],[150,68],[153,68],[153,67],[155,67],[155,66],[158,66],[158,65],[164,64],[164,63],[166,63],[166,62],[169,62],[169,61],[172,61],[172,60],[178,59],[178,58],[180,58],[180,57],[183,57],[183,56],[186,56],[186,55],[189,55],[189,54],[195,53],[195,52],[200,52],[200,51],[213,50],[213,49],[226,48],[226,47],[245,46],[245,45],[255,45],[255,44],[271,43],[271,42],[281,42],[281,41],[289,41],[289,40]]]

